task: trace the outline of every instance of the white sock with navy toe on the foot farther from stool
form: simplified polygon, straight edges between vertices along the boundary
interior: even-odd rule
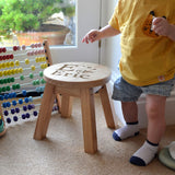
[[[130,163],[138,166],[148,165],[156,155],[159,144],[145,141],[143,145],[131,156]]]

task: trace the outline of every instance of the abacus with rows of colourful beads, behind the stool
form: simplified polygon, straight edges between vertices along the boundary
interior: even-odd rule
[[[43,70],[52,62],[46,49],[47,42],[0,47],[0,108],[8,126],[37,117],[46,83]],[[1,122],[0,116],[0,126]]]

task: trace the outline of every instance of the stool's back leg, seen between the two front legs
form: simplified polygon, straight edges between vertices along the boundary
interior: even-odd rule
[[[69,118],[72,114],[72,97],[62,94],[61,98],[61,117]]]

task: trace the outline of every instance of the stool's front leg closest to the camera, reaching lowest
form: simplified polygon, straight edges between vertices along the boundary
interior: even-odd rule
[[[84,151],[95,153],[97,151],[96,122],[94,109],[94,96],[92,89],[81,90],[81,110],[84,136]]]

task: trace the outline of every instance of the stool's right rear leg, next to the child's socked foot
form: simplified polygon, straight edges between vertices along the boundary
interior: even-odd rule
[[[100,90],[100,96],[101,96],[102,106],[104,109],[107,127],[114,129],[115,122],[113,118],[113,113],[112,113],[112,107],[110,107],[110,103],[108,98],[106,84]]]

